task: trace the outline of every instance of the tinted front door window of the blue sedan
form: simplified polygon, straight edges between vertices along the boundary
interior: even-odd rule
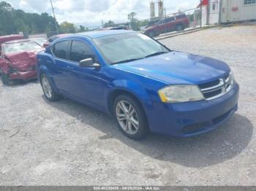
[[[94,52],[89,45],[85,42],[72,41],[70,61],[80,62],[87,58],[91,58],[95,62]]]

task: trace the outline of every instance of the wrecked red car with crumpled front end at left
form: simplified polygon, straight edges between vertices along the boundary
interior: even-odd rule
[[[37,78],[35,69],[37,52],[44,50],[37,42],[22,39],[1,44],[0,73],[4,85],[10,80]]]

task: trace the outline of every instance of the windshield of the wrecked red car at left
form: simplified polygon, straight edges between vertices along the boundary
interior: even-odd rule
[[[36,42],[17,42],[13,44],[3,44],[4,54],[27,51],[39,51],[42,47]]]

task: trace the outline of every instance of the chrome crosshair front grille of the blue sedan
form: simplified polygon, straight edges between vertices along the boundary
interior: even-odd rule
[[[212,82],[207,82],[201,85],[200,87],[201,92],[203,93],[206,100],[211,100],[214,98],[218,98],[225,93],[229,92],[233,85],[233,76],[230,73],[223,78],[214,80]]]

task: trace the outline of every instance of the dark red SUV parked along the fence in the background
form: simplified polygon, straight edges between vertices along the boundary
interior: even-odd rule
[[[154,37],[170,31],[183,31],[187,27],[189,27],[189,18],[182,14],[159,20],[156,25],[146,28],[144,34]]]

